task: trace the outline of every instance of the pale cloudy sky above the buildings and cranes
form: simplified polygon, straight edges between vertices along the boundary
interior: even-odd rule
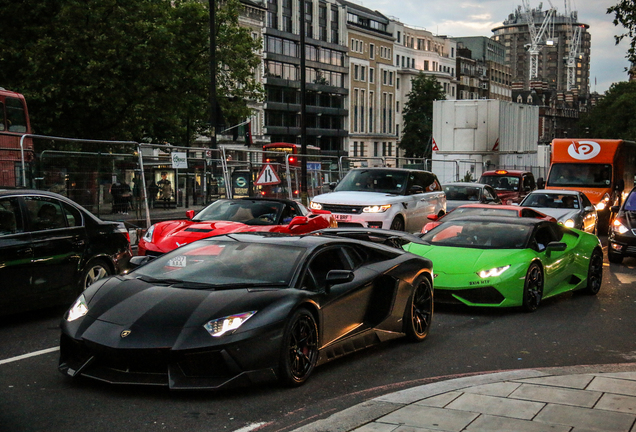
[[[350,0],[389,18],[414,27],[423,27],[437,35],[492,36],[492,29],[500,26],[513,13],[521,0]],[[565,1],[545,0],[543,10],[550,1],[558,14],[565,11]],[[614,82],[627,81],[625,58],[629,40],[616,45],[614,36],[624,33],[622,26],[614,26],[613,14],[607,8],[618,0],[569,0],[570,9],[578,11],[580,23],[589,25],[591,35],[590,91],[604,93]],[[539,0],[529,0],[531,8]],[[595,84],[596,83],[596,84]]]

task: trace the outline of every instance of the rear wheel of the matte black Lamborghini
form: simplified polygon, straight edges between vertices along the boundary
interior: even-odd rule
[[[412,342],[423,341],[433,321],[433,286],[428,278],[418,283],[404,315],[406,337]]]

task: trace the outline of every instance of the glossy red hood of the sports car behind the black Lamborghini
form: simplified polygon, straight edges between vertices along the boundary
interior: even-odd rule
[[[246,225],[229,221],[171,221],[155,225],[153,243],[165,253],[202,238],[256,231],[286,232],[282,225]]]

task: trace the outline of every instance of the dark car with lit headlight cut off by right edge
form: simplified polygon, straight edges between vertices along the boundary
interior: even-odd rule
[[[620,264],[624,257],[636,257],[636,188],[621,206],[613,206],[611,210],[616,216],[607,236],[607,258]]]

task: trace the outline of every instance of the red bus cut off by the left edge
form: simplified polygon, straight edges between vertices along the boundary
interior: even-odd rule
[[[33,140],[25,138],[22,148],[20,140],[30,133],[31,121],[24,96],[0,87],[0,186],[26,186],[22,181],[22,168],[33,160]]]

